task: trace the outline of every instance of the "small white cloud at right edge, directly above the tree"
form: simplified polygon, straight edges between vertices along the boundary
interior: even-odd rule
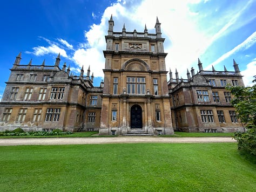
[[[242,79],[244,80],[245,86],[254,85],[252,81],[254,80],[253,76],[256,76],[256,58],[246,65],[246,70],[241,71],[241,74],[244,76]]]

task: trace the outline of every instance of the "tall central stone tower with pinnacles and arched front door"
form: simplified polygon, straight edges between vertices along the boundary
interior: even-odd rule
[[[156,33],[107,31],[100,135],[173,134],[164,38]]]

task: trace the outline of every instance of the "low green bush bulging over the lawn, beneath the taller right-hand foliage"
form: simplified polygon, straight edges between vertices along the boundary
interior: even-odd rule
[[[238,149],[256,156],[256,126],[245,133],[234,133],[234,139],[238,142]]]

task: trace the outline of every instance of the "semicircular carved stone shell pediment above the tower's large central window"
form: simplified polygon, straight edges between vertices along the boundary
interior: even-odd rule
[[[141,59],[131,59],[124,63],[122,69],[131,71],[148,71],[149,65]]]

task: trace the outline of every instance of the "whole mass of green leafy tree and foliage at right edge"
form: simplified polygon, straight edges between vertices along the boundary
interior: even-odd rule
[[[253,83],[256,83],[256,76]],[[256,156],[256,84],[252,87],[228,85],[226,89],[234,95],[231,104],[246,128],[245,133],[234,134],[234,139],[238,141],[238,149]]]

